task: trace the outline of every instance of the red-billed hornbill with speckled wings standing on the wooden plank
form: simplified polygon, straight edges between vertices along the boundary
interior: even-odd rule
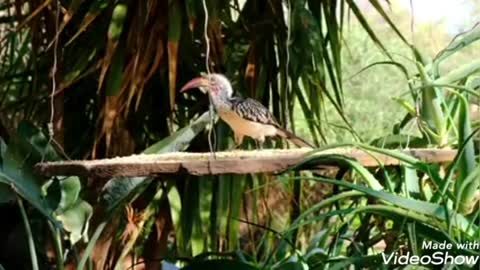
[[[260,102],[251,98],[233,96],[232,85],[222,74],[209,74],[189,81],[180,91],[199,88],[210,95],[210,100],[220,118],[234,132],[236,147],[245,136],[253,138],[260,148],[265,137],[282,137],[298,147],[312,147],[305,140],[281,127],[275,117]]]

